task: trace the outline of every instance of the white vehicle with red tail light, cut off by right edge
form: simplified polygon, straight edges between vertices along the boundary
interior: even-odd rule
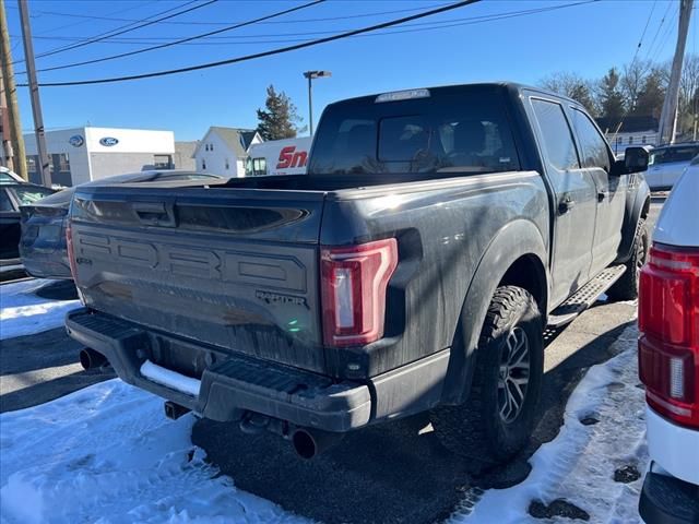
[[[639,374],[652,462],[639,511],[649,524],[699,522],[698,164],[663,206],[641,271]]]

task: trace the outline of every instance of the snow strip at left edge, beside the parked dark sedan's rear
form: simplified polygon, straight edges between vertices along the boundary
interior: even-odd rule
[[[0,340],[31,335],[63,325],[66,313],[79,300],[49,300],[35,295],[57,281],[43,278],[0,286]]]

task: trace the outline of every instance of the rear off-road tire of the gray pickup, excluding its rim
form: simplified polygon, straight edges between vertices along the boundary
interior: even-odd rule
[[[529,384],[521,410],[506,422],[500,415],[498,384],[507,341],[516,327],[521,327],[529,343]],[[496,289],[474,357],[466,402],[433,409],[430,420],[441,444],[470,458],[466,467],[477,474],[516,455],[529,442],[536,419],[544,369],[543,319],[529,291],[516,286]]]

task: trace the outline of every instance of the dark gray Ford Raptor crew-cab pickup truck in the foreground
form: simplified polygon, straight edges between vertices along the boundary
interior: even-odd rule
[[[546,326],[636,297],[647,166],[517,84],[339,102],[307,176],[78,188],[67,329],[173,418],[310,457],[429,412],[448,449],[497,464],[535,422]]]

